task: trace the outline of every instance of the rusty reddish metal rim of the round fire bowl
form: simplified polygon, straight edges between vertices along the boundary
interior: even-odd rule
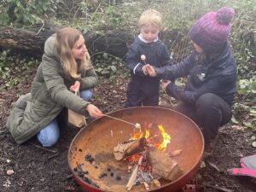
[[[178,177],[175,181],[169,182],[169,183],[165,183],[164,185],[161,185],[159,188],[157,189],[153,189],[153,190],[148,190],[148,191],[157,191],[157,192],[174,192],[177,191],[179,189],[181,189],[185,184],[189,183],[190,179],[192,177],[195,176],[196,172],[198,171],[198,169],[201,166],[201,160],[202,160],[202,155],[203,155],[203,151],[204,151],[204,139],[201,133],[200,128],[198,127],[198,125],[195,124],[194,121],[192,121],[191,119],[189,119],[187,116],[183,115],[182,113],[178,113],[172,109],[169,108],[160,108],[160,107],[135,107],[135,108],[125,108],[125,109],[119,109],[117,111],[108,113],[109,115],[112,115],[113,117],[120,113],[120,112],[124,112],[124,111],[129,111],[129,110],[137,110],[137,109],[151,109],[151,110],[164,110],[164,111],[169,111],[172,113],[176,113],[177,115],[179,115],[180,117],[182,117],[183,119],[187,119],[189,121],[190,124],[194,125],[194,129],[195,131],[197,131],[197,133],[199,134],[199,137],[201,138],[201,141],[198,141],[199,143],[201,142],[201,150],[199,152],[199,158],[197,160],[197,162],[194,164],[194,166],[191,166],[189,168],[189,170],[187,170],[186,172],[183,173],[183,175],[181,177]],[[106,118],[106,117],[103,117]],[[120,117],[119,117],[120,118]],[[92,192],[110,192],[111,190],[105,190],[105,189],[99,189],[96,188],[93,184],[90,183],[86,183],[84,182],[84,180],[79,177],[78,173],[75,172],[73,170],[73,166],[71,165],[72,162],[72,155],[73,155],[73,144],[76,143],[76,140],[79,138],[80,134],[83,133],[84,131],[90,131],[90,130],[86,130],[86,128],[93,126],[94,124],[96,124],[96,122],[102,120],[101,119],[95,119],[93,121],[90,122],[90,124],[86,125],[82,130],[80,130],[78,132],[78,134],[73,138],[72,143],[70,144],[70,147],[68,149],[68,154],[67,154],[67,160],[68,160],[68,165],[73,173],[73,177],[75,178],[75,180],[77,181],[77,183],[79,183],[84,189],[92,191]],[[170,189],[172,187],[172,189]],[[133,191],[133,190],[131,190]],[[140,190],[141,191],[141,190]],[[145,190],[146,191],[146,190]]]

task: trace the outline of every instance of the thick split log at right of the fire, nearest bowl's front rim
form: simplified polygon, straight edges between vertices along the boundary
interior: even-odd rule
[[[156,148],[148,148],[146,157],[152,166],[152,174],[156,177],[174,181],[183,174],[177,161],[172,160],[171,157]]]

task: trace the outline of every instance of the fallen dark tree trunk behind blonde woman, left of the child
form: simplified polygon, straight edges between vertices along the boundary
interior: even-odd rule
[[[33,30],[0,26],[0,47],[13,49],[21,54],[41,57],[44,54],[44,42],[58,31],[55,26],[44,26]],[[128,50],[127,44],[133,40],[131,34],[119,31],[108,31],[103,35],[95,33],[84,34],[85,44],[90,55],[101,53],[124,58]]]

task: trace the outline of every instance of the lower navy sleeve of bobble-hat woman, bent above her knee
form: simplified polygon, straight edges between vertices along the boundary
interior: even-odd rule
[[[173,96],[179,101],[195,104],[198,98],[205,93],[217,94],[219,91],[219,84],[224,84],[226,77],[219,77],[218,79],[209,79],[201,87],[194,90],[185,90],[172,82],[166,87],[166,93]]]

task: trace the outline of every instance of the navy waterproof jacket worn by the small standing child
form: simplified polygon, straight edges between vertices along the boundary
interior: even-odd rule
[[[141,55],[146,56],[145,62],[142,61]],[[146,96],[152,96],[159,91],[160,78],[144,75],[143,65],[145,63],[154,67],[172,65],[169,50],[160,39],[155,42],[144,43],[138,37],[131,44],[125,62],[131,70],[130,84],[142,90]]]

